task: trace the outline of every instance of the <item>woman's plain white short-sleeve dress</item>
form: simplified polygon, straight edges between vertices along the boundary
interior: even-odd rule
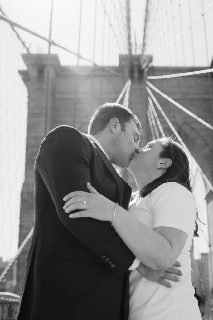
[[[130,273],[129,320],[201,320],[191,282],[190,245],[195,227],[195,199],[176,182],[166,182],[133,204],[131,212],[150,228],[171,227],[187,234],[178,257],[183,276],[172,288],[148,281],[136,270]]]

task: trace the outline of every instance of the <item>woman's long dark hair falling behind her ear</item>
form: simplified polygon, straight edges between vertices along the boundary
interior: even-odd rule
[[[137,200],[144,198],[154,189],[165,182],[177,182],[192,192],[192,185],[190,180],[189,160],[183,149],[175,142],[172,137],[164,137],[159,139],[162,142],[163,149],[159,154],[160,158],[169,158],[172,164],[167,168],[166,172],[157,179],[149,182],[136,197]],[[198,212],[196,208],[196,216]],[[196,219],[197,219],[196,218]],[[195,220],[194,236],[198,237],[198,224]]]

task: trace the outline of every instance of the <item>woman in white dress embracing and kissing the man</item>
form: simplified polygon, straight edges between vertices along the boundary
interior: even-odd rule
[[[76,191],[65,197],[70,218],[91,217],[110,221],[134,255],[152,269],[167,269],[181,263],[179,283],[168,290],[130,274],[130,320],[202,319],[191,283],[190,244],[197,234],[195,200],[191,193],[189,162],[171,138],[149,142],[138,149],[128,165],[140,194],[128,212],[98,194]]]

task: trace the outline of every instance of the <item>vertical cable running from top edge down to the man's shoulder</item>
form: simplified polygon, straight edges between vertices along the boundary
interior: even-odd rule
[[[51,13],[50,13],[50,24],[49,24],[49,40],[51,39],[52,32],[52,14],[53,14],[53,1],[51,2]],[[45,135],[49,132],[49,69],[50,69],[50,47],[49,42],[48,46],[48,57],[47,57],[47,82],[46,82],[46,108],[45,108],[45,124],[44,124],[44,133]]]

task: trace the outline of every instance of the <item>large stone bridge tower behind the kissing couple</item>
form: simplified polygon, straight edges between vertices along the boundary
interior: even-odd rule
[[[95,109],[103,103],[117,100],[126,80],[114,76],[98,67],[90,66],[61,66],[58,56],[52,54],[50,60],[50,84],[49,105],[46,101],[46,76],[47,55],[34,55],[37,63],[25,54],[23,59],[27,65],[26,71],[20,71],[20,75],[28,90],[28,123],[27,123],[27,150],[25,181],[21,193],[21,212],[19,245],[23,242],[34,220],[34,161],[42,139],[45,136],[45,116],[47,116],[48,131],[54,127],[66,124],[75,126],[81,132],[87,132],[87,124]],[[152,140],[147,119],[147,92],[145,82],[147,75],[161,75],[193,71],[187,67],[151,67],[148,70],[141,69],[141,56],[120,56],[118,67],[111,69],[123,73],[128,77],[130,74],[132,85],[130,89],[129,108],[137,114],[142,124],[141,146],[146,141]],[[201,68],[196,68],[201,69]],[[203,120],[213,123],[213,110],[211,108],[211,96],[209,85],[212,87],[212,79],[208,75],[181,77],[164,80],[153,80],[158,89],[165,92],[172,99],[200,116]],[[166,115],[185,141],[188,149],[195,157],[210,182],[213,182],[213,134],[183,111],[175,108],[171,103],[159,95],[156,96]],[[121,101],[122,102],[122,101]],[[47,110],[48,114],[45,114]],[[168,125],[161,115],[164,132],[172,135]],[[133,177],[127,171],[124,178],[133,183]],[[213,194],[207,189],[207,202],[209,210],[209,230],[213,242]],[[26,264],[29,243],[23,249],[18,259],[16,293],[20,294],[24,269]]]

